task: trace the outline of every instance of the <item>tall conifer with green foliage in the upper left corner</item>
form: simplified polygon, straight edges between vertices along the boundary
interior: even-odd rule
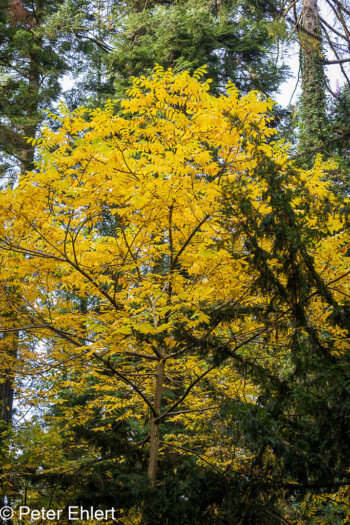
[[[65,70],[58,54],[42,34],[45,18],[55,9],[46,0],[0,2],[0,153],[7,167],[21,172],[32,167],[35,137],[59,92]]]

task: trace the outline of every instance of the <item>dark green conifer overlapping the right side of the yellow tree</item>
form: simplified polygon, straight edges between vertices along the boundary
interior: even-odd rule
[[[302,499],[306,492],[332,492],[350,484],[350,359],[347,353],[332,355],[331,338],[313,328],[309,301],[312,294],[318,294],[334,326],[348,334],[350,306],[347,299],[341,306],[336,302],[332,286],[318,274],[309,255],[322,231],[303,224],[292,211],[290,203],[295,193],[286,189],[287,180],[271,163],[262,161],[258,170],[267,182],[265,198],[271,213],[265,217],[247,213],[241,192],[228,187],[227,217],[232,213],[231,203],[235,203],[236,214],[239,203],[242,217],[247,218],[242,221],[247,258],[259,273],[257,294],[271,294],[270,304],[252,313],[266,326],[272,326],[276,316],[289,312],[279,329],[289,330],[290,340],[285,347],[289,346],[290,355],[284,371],[275,373],[248,358],[247,374],[260,386],[259,401],[256,406],[231,406],[228,410],[237,414],[237,431],[244,434],[247,446],[257,454],[252,481],[259,483],[260,479],[261,494],[284,490],[291,502]],[[325,208],[324,213],[331,210]],[[272,241],[269,252],[262,248],[266,238]],[[281,263],[277,274],[269,269],[271,259]],[[226,352],[228,349],[216,345],[218,358]],[[274,451],[273,461],[269,449]]]

